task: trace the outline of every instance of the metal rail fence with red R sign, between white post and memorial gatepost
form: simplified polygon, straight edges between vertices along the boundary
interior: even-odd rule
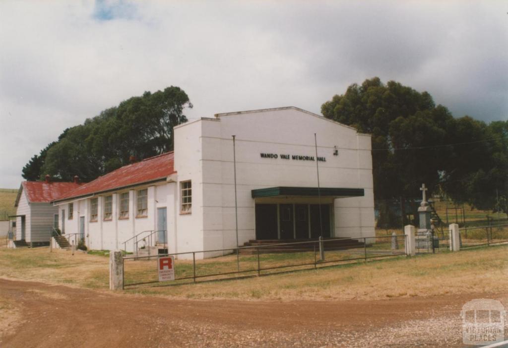
[[[319,268],[406,255],[405,235],[330,238],[123,258],[124,288],[173,285]],[[157,260],[174,256],[175,280],[158,281]]]

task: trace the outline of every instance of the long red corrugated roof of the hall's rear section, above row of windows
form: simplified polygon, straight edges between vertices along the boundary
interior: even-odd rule
[[[79,188],[63,194],[55,200],[64,200],[90,195],[122,187],[153,182],[164,179],[174,173],[173,152],[150,157],[140,162],[125,165],[97,178]]]

